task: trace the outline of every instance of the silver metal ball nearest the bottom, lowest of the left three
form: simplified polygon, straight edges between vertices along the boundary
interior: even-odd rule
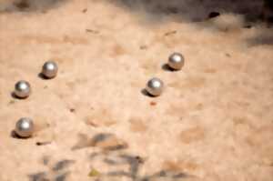
[[[19,119],[15,126],[15,133],[20,137],[30,137],[34,133],[34,124],[31,118],[23,117]]]

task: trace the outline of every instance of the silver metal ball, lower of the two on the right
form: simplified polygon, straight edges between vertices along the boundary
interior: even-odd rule
[[[151,96],[160,96],[164,89],[164,83],[159,78],[152,78],[147,82],[147,93]]]

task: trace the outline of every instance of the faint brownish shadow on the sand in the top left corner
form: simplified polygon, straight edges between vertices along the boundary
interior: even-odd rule
[[[1,12],[46,12],[69,0],[11,0],[0,2]]]

